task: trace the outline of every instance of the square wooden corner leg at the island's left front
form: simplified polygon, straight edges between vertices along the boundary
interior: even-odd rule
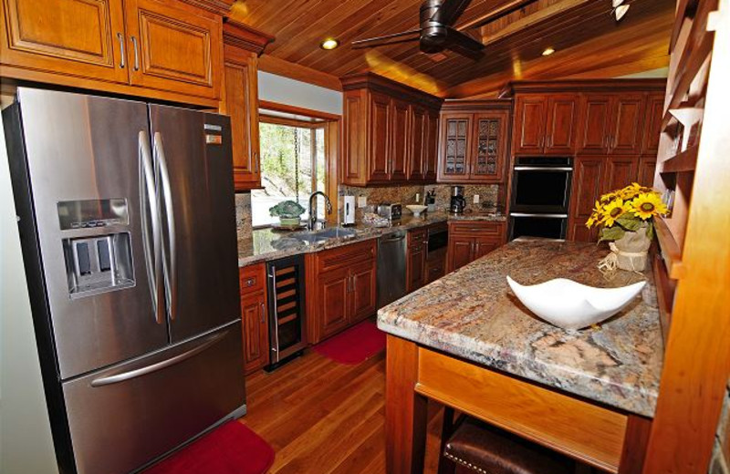
[[[426,398],[415,392],[418,346],[388,335],[385,440],[388,474],[422,474],[426,448]]]

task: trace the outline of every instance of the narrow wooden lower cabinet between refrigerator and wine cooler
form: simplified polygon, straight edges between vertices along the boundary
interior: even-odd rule
[[[239,270],[241,319],[246,374],[268,365],[268,320],[266,311],[266,266],[249,265]]]

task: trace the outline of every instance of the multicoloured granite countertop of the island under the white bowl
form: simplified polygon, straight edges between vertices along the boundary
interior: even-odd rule
[[[645,417],[656,407],[662,331],[651,271],[597,269],[605,245],[510,242],[378,312],[378,327],[418,344]],[[600,328],[568,332],[519,303],[506,275],[523,284],[564,277],[597,287],[647,285]]]

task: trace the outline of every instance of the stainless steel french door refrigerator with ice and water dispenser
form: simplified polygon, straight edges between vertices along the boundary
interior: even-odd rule
[[[245,414],[229,119],[36,88],[3,118],[61,471]]]

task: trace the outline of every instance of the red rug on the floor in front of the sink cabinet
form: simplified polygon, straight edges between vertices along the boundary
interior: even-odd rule
[[[318,354],[350,366],[360,364],[384,349],[385,333],[371,321],[363,321],[314,346]]]

